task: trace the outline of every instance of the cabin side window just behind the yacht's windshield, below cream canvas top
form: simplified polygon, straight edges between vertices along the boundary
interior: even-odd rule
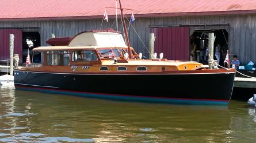
[[[73,51],[72,61],[98,61],[98,58],[93,50]]]

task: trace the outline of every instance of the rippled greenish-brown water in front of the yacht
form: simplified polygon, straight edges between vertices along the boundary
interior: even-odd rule
[[[255,142],[246,102],[188,106],[97,100],[1,87],[0,142]]]

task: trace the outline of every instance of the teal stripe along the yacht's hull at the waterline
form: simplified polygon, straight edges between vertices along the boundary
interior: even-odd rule
[[[148,97],[132,97],[132,96],[111,96],[96,93],[78,93],[78,92],[63,92],[58,90],[47,90],[47,89],[33,89],[33,88],[20,88],[16,89],[29,90],[44,93],[54,94],[66,94],[71,96],[89,97],[89,98],[100,98],[107,100],[118,100],[118,101],[132,101],[132,102],[154,102],[154,103],[166,103],[166,104],[186,104],[186,105],[228,105],[225,101],[205,101],[205,100],[181,100],[181,99],[168,99],[168,98],[148,98]]]

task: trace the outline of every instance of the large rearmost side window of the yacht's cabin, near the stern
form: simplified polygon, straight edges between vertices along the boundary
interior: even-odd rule
[[[47,65],[68,66],[70,54],[68,51],[47,51]]]

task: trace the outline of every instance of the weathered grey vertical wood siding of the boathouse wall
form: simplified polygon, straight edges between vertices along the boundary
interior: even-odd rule
[[[136,17],[136,15],[135,15]],[[101,19],[81,19],[70,21],[0,21],[0,28],[21,27],[25,31],[39,31],[41,35],[41,45],[45,46],[45,41],[50,38],[51,33],[56,37],[74,36],[75,34],[101,27]],[[108,23],[104,21],[102,29],[111,27],[115,29],[114,19]],[[121,30],[121,21],[119,21],[119,30]],[[134,29],[139,34],[137,37],[133,28],[129,27],[129,38],[132,47],[138,53],[148,55],[144,44],[148,47],[149,25],[199,25],[199,24],[225,24],[230,26],[190,26],[190,34],[196,29],[226,29],[229,33],[230,53],[237,54],[242,63],[249,61],[256,62],[256,14],[252,15],[226,15],[209,17],[161,17],[161,18],[136,18],[133,23]],[[127,23],[128,25],[128,23]],[[30,28],[29,28],[30,27]],[[35,27],[40,27],[36,29]],[[143,44],[144,43],[144,44]]]

